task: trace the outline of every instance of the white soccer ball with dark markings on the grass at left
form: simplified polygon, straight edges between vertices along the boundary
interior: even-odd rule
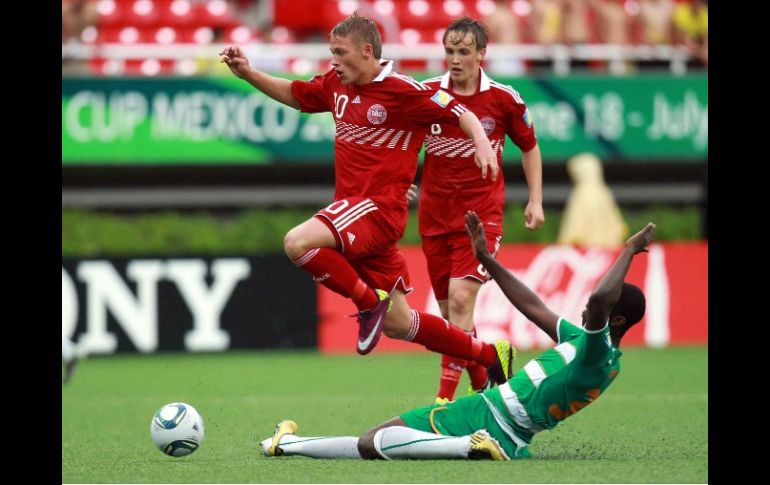
[[[194,407],[172,402],[158,409],[150,423],[152,441],[169,456],[185,456],[203,441],[203,418]]]

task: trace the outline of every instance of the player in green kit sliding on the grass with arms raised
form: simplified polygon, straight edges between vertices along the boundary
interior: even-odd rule
[[[540,298],[487,250],[482,222],[465,218],[474,256],[505,296],[556,346],[529,361],[503,385],[447,404],[413,409],[376,426],[360,438],[300,437],[286,420],[262,441],[267,456],[314,458],[471,458],[509,460],[530,456],[535,433],[554,428],[609,386],[620,371],[620,340],[644,316],[641,290],[623,279],[634,255],[646,252],[655,224],[631,236],[602,276],[583,311],[583,327],[553,313]]]

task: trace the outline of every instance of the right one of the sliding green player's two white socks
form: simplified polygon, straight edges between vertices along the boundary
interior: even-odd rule
[[[441,436],[404,426],[383,428],[374,435],[374,448],[386,460],[467,458],[470,446],[470,436]]]

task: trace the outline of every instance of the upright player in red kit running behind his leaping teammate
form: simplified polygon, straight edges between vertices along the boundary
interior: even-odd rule
[[[529,186],[525,227],[535,230],[544,221],[540,148],[519,93],[492,80],[481,68],[487,39],[486,27],[478,20],[463,17],[452,22],[444,32],[449,72],[424,83],[448,92],[476,114],[495,151],[497,164],[502,164],[505,135],[521,150]],[[418,210],[422,249],[441,314],[473,335],[476,295],[489,275],[473,257],[465,234],[465,213],[478,213],[484,223],[489,252],[494,255],[503,234],[505,205],[502,174],[492,183],[479,180],[471,158],[474,152],[473,142],[457,126],[433,125],[426,139]],[[436,402],[453,399],[466,365],[473,390],[487,385],[483,367],[444,355]]]

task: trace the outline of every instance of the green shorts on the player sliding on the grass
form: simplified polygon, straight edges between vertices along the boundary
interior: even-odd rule
[[[444,436],[466,436],[486,429],[511,458],[530,456],[527,447],[519,448],[495,421],[481,394],[464,396],[447,404],[432,404],[402,414],[412,429]]]

